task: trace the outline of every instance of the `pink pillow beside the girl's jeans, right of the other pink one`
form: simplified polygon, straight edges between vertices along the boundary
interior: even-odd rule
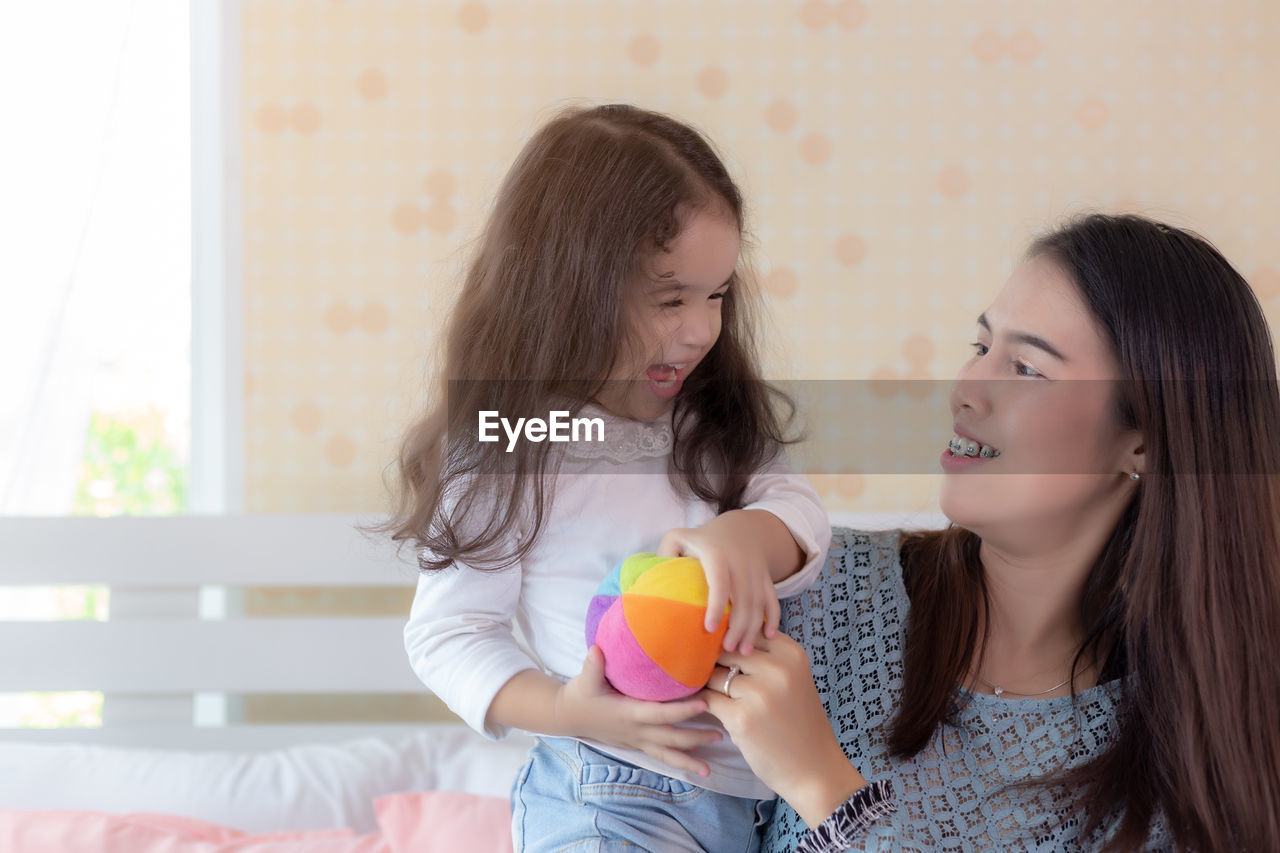
[[[374,802],[390,853],[512,853],[511,804],[502,797],[426,790]]]

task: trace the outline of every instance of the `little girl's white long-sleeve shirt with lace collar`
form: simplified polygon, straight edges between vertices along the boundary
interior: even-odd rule
[[[498,571],[454,564],[419,578],[404,628],[413,671],[449,710],[490,738],[507,734],[502,726],[485,729],[485,715],[499,688],[517,672],[536,669],[567,681],[581,671],[586,608],[614,566],[632,553],[657,551],[672,528],[695,528],[716,516],[713,505],[681,496],[671,484],[669,416],[632,421],[595,407],[582,415],[604,420],[604,441],[564,446],[545,524],[524,560]],[[831,543],[831,524],[817,492],[780,457],[751,479],[745,505],[776,515],[805,553],[804,566],[776,584],[778,598],[805,589]],[[723,731],[709,715],[685,725]],[[707,777],[639,751],[590,743],[694,785],[772,797],[727,735],[694,751],[710,767]]]

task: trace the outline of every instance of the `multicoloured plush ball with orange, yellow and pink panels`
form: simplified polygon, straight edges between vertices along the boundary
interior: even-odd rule
[[[604,652],[604,678],[618,693],[678,699],[705,686],[719,657],[727,620],[708,631],[705,619],[703,564],[636,553],[611,571],[591,598],[586,646]]]

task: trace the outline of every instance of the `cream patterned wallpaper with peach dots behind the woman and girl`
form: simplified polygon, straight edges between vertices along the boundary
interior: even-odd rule
[[[575,100],[723,151],[773,378],[946,379],[1083,209],[1196,228],[1280,318],[1272,0],[243,0],[241,27],[248,511],[385,506],[468,241]],[[833,508],[936,484],[819,478]]]

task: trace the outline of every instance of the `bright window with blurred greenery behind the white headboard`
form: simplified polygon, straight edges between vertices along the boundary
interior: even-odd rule
[[[192,19],[216,6],[45,0],[0,28],[0,225],[20,236],[0,284],[0,514],[192,506],[192,72],[219,32],[202,44]],[[0,589],[0,620],[109,607],[102,588]],[[0,725],[93,725],[100,707],[0,695]]]

